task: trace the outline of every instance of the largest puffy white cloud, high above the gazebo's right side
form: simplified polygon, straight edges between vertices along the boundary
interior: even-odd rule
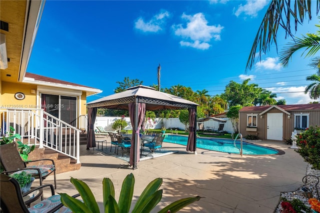
[[[182,14],[183,19],[188,22],[183,28],[182,24],[173,25],[174,34],[181,36],[184,40],[180,41],[182,46],[191,46],[198,49],[207,49],[211,45],[208,43],[212,38],[220,40],[220,32],[223,26],[208,25],[203,13],[199,12],[194,15]]]

